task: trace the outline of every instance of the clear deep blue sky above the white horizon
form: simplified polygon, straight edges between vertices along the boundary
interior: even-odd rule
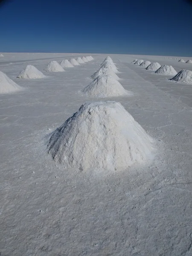
[[[187,0],[7,0],[0,52],[192,56]]]

